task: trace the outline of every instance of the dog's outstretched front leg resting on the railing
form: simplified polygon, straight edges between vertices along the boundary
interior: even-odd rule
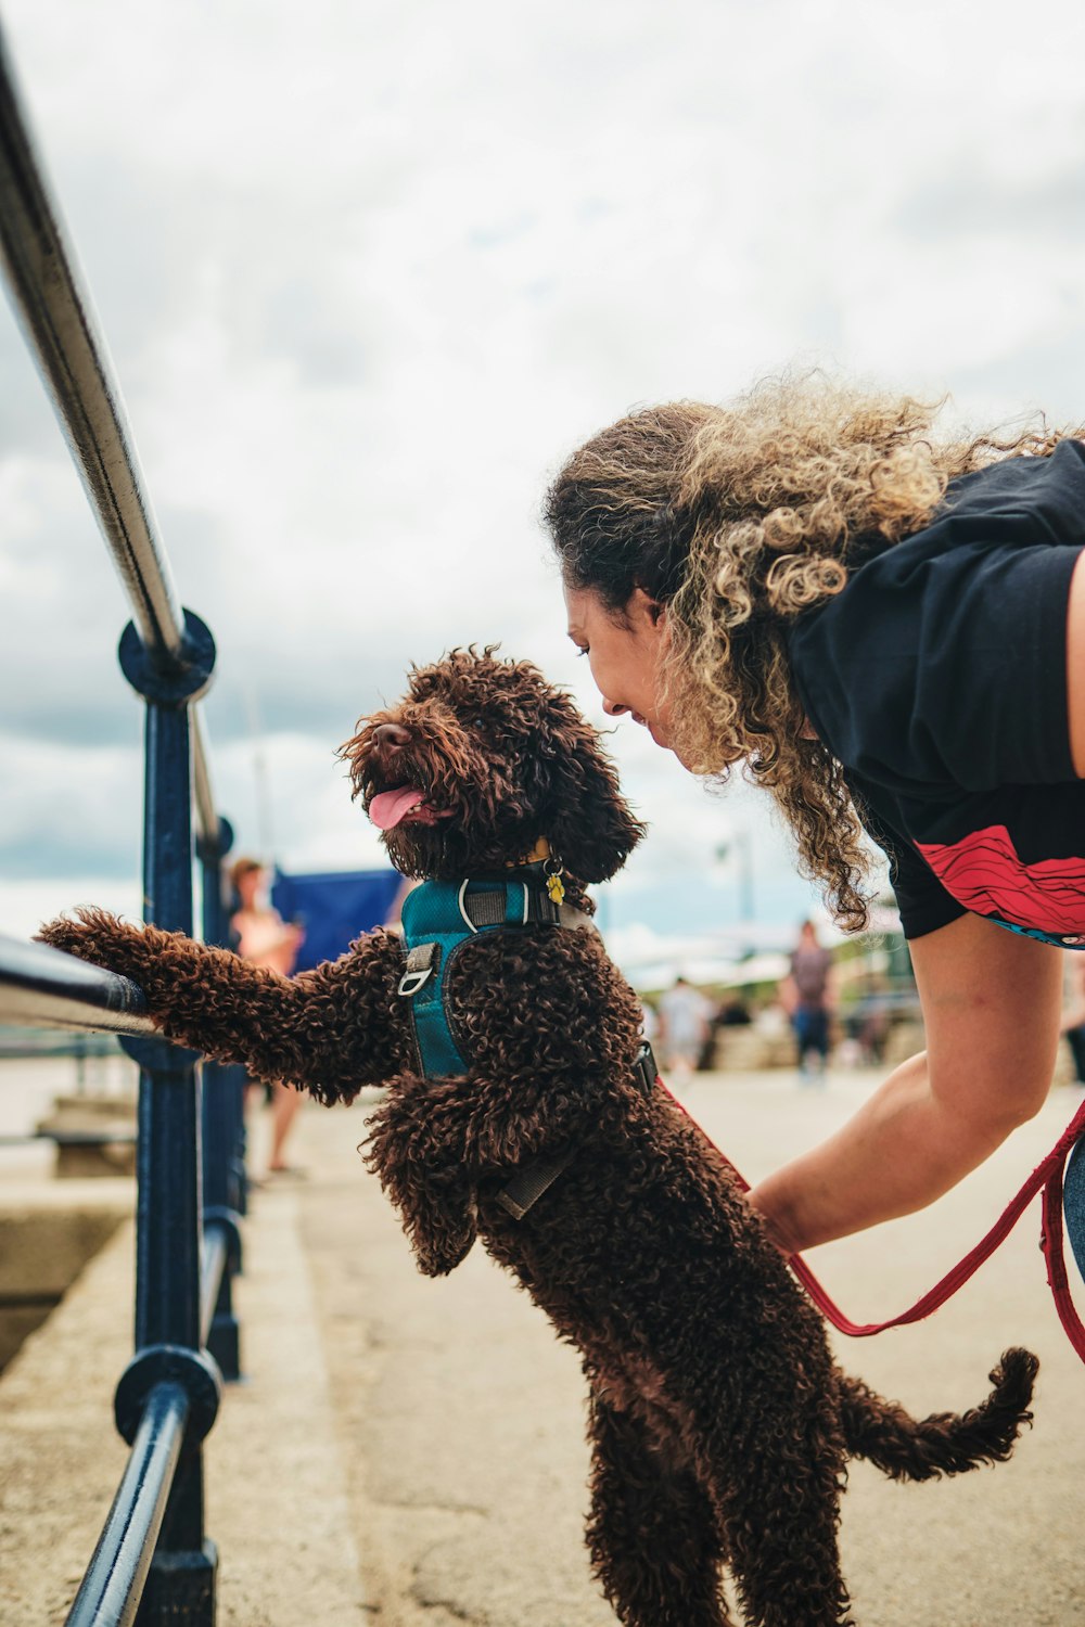
[[[298,978],[104,909],[50,921],[39,936],[138,983],[168,1038],[320,1101],[350,1101],[363,1084],[403,1066],[408,1040],[395,1009],[402,950],[386,932]]]

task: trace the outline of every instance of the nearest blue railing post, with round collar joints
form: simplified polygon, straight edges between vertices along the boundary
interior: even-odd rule
[[[129,623],[120,639],[120,665],[146,701],[145,916],[168,931],[192,932],[189,704],[207,687],[215,644],[190,612],[184,625],[177,661],[148,651]],[[163,1383],[179,1381],[194,1402],[137,1622],[213,1627],[218,1554],[203,1534],[202,1438],[215,1417],[216,1399],[211,1402],[210,1394],[218,1391],[218,1368],[200,1339],[198,1058],[166,1040],[122,1043],[140,1064],[140,1144],[135,1359],[117,1386],[117,1424],[132,1440],[143,1407]]]

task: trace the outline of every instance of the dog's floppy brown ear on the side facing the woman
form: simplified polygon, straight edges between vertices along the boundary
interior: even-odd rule
[[[647,827],[621,796],[597,731],[564,695],[556,695],[543,714],[535,773],[542,830],[555,854],[581,882],[615,875]]]

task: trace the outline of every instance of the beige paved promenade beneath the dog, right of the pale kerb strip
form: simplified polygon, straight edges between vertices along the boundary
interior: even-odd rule
[[[688,1108],[756,1178],[838,1124],[870,1088],[786,1074],[699,1075]],[[1065,1124],[1052,1092],[935,1212],[815,1253],[857,1321],[911,1305],[1000,1212]],[[363,1105],[306,1111],[299,1157],[319,1178],[296,1202],[324,1329],[358,1551],[382,1627],[604,1627],[581,1542],[587,1453],[574,1354],[477,1248],[442,1280],[412,1267],[359,1170]],[[259,1224],[259,1222],[257,1222]],[[1038,1207],[955,1302],[919,1328],[839,1341],[841,1360],[919,1412],[986,1393],[1009,1344],[1041,1357],[1036,1424],[1010,1464],[893,1485],[856,1464],[844,1562],[861,1627],[1072,1627],[1085,1620],[1085,1368],[1038,1251]],[[1085,1298],[1085,1295],[1083,1295]]]

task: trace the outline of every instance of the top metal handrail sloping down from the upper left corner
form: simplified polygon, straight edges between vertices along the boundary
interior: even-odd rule
[[[80,478],[132,605],[140,643],[164,672],[184,672],[184,615],[132,438],[109,348],[34,153],[0,33],[0,259]],[[197,827],[216,838],[207,752],[194,711]]]

